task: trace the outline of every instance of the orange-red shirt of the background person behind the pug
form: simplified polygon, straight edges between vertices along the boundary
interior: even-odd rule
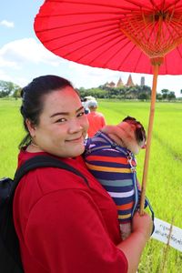
[[[106,126],[105,116],[98,112],[90,112],[87,115],[89,127],[87,131],[88,137],[92,137],[100,130],[103,126]]]

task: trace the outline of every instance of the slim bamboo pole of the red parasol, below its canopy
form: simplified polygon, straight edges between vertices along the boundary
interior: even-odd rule
[[[151,146],[151,138],[152,138],[152,128],[154,123],[154,114],[155,114],[155,103],[156,103],[156,93],[157,93],[157,76],[159,65],[153,66],[154,76],[153,76],[153,84],[152,84],[152,94],[151,94],[151,105],[150,105],[150,116],[147,128],[147,147],[146,147],[146,157],[144,161],[144,172],[142,178],[142,189],[141,189],[141,199],[140,199],[140,215],[144,214],[144,205],[145,205],[145,197],[146,197],[146,187],[147,187],[147,170],[148,170],[148,161],[150,154],[150,146]]]

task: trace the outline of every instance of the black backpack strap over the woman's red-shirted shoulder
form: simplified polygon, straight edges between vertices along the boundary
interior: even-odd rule
[[[63,162],[56,157],[35,156],[35,157],[32,157],[32,158],[26,160],[25,163],[16,170],[15,178],[14,178],[14,185],[13,185],[12,191],[11,191],[11,196],[14,195],[15,188],[17,187],[17,184],[20,181],[20,179],[22,177],[24,177],[25,174],[28,173],[30,170],[33,170],[37,167],[58,167],[58,168],[66,169],[67,171],[70,171],[70,172],[76,174],[76,176],[82,177],[85,180],[86,185],[89,186],[86,177],[84,177],[84,175],[82,173],[80,173],[75,167],[72,167],[72,166],[66,164],[66,162]]]

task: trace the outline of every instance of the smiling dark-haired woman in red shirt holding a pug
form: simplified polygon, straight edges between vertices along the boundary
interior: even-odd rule
[[[25,273],[136,272],[152,220],[136,213],[132,234],[121,241],[116,206],[80,157],[88,122],[76,90],[61,77],[40,76],[22,96],[27,136],[18,167],[49,154],[76,167],[89,184],[54,167],[37,168],[21,179],[14,220]]]

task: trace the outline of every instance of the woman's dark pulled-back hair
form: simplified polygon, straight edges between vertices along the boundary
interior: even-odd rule
[[[32,124],[35,126],[38,125],[39,116],[44,107],[43,97],[57,89],[65,88],[66,86],[73,87],[72,84],[63,77],[46,75],[36,77],[29,85],[22,89],[22,106],[20,107],[20,112],[24,119],[24,126],[27,134],[19,144],[19,149],[29,145],[31,142],[31,136],[25,124],[25,120],[29,119]]]

